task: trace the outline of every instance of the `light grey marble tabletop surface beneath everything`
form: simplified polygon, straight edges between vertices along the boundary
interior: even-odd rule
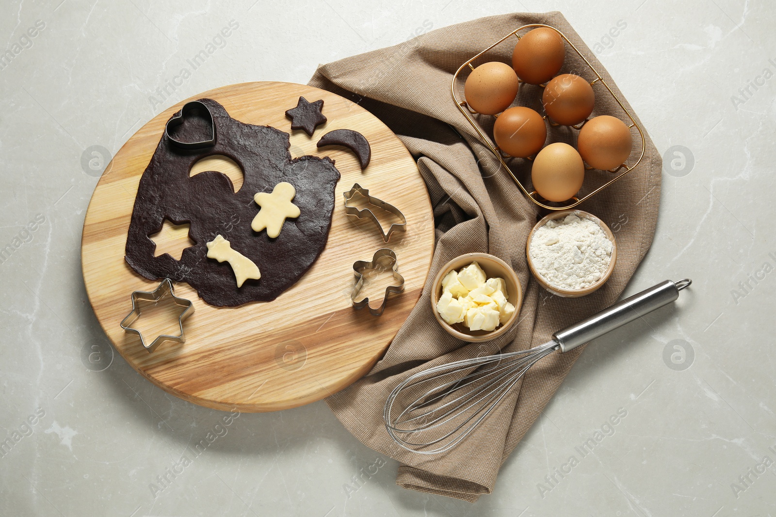
[[[628,292],[694,284],[588,347],[493,495],[397,487],[397,463],[323,402],[227,425],[111,352],[81,226],[102,160],[144,122],[223,84],[305,83],[416,31],[554,9],[664,152]],[[764,0],[5,0],[0,515],[776,515],[774,26]]]

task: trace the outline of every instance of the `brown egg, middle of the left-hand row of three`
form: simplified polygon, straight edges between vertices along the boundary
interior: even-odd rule
[[[498,115],[493,126],[493,137],[504,153],[525,158],[542,149],[547,138],[547,126],[539,113],[523,106],[514,106]]]

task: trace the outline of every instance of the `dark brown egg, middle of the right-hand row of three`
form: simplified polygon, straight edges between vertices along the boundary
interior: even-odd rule
[[[593,112],[595,94],[593,87],[580,76],[563,74],[547,83],[542,104],[554,122],[574,126]]]

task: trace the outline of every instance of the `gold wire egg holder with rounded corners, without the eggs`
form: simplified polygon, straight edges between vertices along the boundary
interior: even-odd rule
[[[509,167],[509,165],[507,164],[507,162],[505,160],[533,160],[533,157],[528,157],[528,158],[506,157],[505,158],[504,154],[501,152],[501,150],[498,148],[498,146],[494,145],[494,143],[492,143],[490,141],[490,138],[488,138],[488,136],[484,133],[484,131],[480,127],[480,125],[474,119],[472,119],[472,116],[471,116],[472,114],[479,115],[479,113],[477,113],[473,109],[471,109],[469,107],[469,105],[466,103],[466,100],[461,100],[461,99],[459,99],[458,95],[456,95],[456,81],[458,81],[458,78],[459,78],[459,75],[461,74],[461,71],[463,71],[466,67],[469,67],[470,70],[474,70],[474,66],[472,64],[474,60],[476,60],[478,57],[482,56],[484,53],[487,53],[489,50],[493,49],[494,47],[497,47],[497,45],[499,45],[499,44],[503,43],[504,41],[508,40],[509,38],[511,38],[511,36],[515,36],[515,37],[517,37],[518,40],[520,40],[521,36],[518,34],[518,32],[520,32],[522,30],[525,30],[525,29],[535,29],[537,27],[546,27],[547,29],[553,29],[554,31],[556,31],[556,33],[558,33],[563,38],[563,40],[566,43],[568,43],[568,46],[571,47],[571,49],[573,49],[573,51],[576,52],[577,55],[582,58],[582,60],[584,60],[584,63],[587,64],[587,67],[590,69],[590,71],[595,76],[594,80],[590,82],[591,86],[593,86],[597,82],[600,82],[601,84],[603,84],[605,86],[606,90],[609,92],[609,95],[611,95],[611,97],[615,99],[615,102],[617,102],[617,104],[620,106],[620,108],[622,109],[622,112],[624,112],[625,115],[627,115],[628,119],[630,119],[630,124],[628,124],[626,122],[625,125],[628,126],[629,129],[636,128],[636,130],[638,131],[639,136],[641,138],[641,152],[639,153],[639,157],[636,159],[635,163],[633,163],[631,165],[627,164],[627,161],[630,159],[630,156],[633,156],[633,151],[631,151],[631,154],[625,160],[625,163],[619,165],[618,167],[615,167],[615,169],[612,169],[611,171],[603,171],[605,173],[608,172],[608,173],[611,173],[611,174],[616,174],[614,177],[612,177],[608,181],[605,181],[604,184],[601,184],[598,188],[595,188],[594,190],[588,192],[586,195],[582,196],[581,198],[577,198],[576,195],[573,196],[572,198],[569,199],[570,203],[566,204],[566,205],[563,205],[563,206],[547,205],[547,203],[549,203],[549,202],[546,199],[542,198],[539,195],[538,192],[536,192],[536,191],[528,191],[528,188],[525,188],[525,185],[522,184],[522,182],[518,179],[517,174],[514,174],[514,172],[511,170],[511,168]],[[585,79],[585,80],[587,81],[587,79]],[[520,81],[520,88],[523,87],[523,84],[525,84],[525,83],[523,83],[523,81]],[[540,84],[539,86],[544,88],[546,86],[546,84]],[[462,89],[462,88],[459,88],[459,90],[460,89]],[[611,185],[612,183],[614,183],[618,179],[620,179],[623,176],[625,176],[625,174],[628,174],[630,171],[632,171],[634,168],[636,168],[636,166],[641,162],[642,158],[644,157],[644,150],[646,149],[646,140],[644,138],[644,131],[643,131],[643,129],[641,128],[641,126],[639,126],[638,123],[636,123],[636,117],[629,111],[629,109],[625,108],[625,105],[623,105],[622,102],[620,101],[620,99],[617,98],[617,95],[615,95],[615,92],[611,90],[611,87],[606,83],[604,78],[601,77],[601,74],[598,73],[598,71],[590,63],[590,61],[588,61],[587,58],[584,57],[582,55],[582,53],[580,53],[579,50],[577,50],[577,47],[575,47],[574,44],[570,42],[570,40],[566,37],[565,34],[560,32],[558,29],[556,29],[553,26],[544,25],[542,23],[532,23],[530,25],[524,25],[524,26],[518,27],[518,29],[514,29],[511,33],[509,33],[508,35],[506,35],[503,38],[501,38],[501,40],[498,40],[496,43],[494,43],[493,45],[490,45],[490,47],[487,47],[487,49],[485,49],[482,52],[476,54],[476,56],[472,57],[471,59],[466,61],[466,63],[462,64],[459,67],[459,69],[456,71],[456,73],[453,74],[453,76],[452,76],[452,83],[450,84],[450,92],[452,93],[452,98],[456,102],[456,106],[458,106],[458,109],[460,110],[460,112],[466,117],[466,120],[469,121],[469,124],[471,124],[472,127],[476,130],[476,132],[480,135],[480,140],[482,140],[490,148],[490,150],[498,158],[499,162],[501,162],[501,167],[503,167],[504,170],[509,173],[509,175],[512,177],[514,182],[516,184],[518,184],[518,187],[520,188],[521,191],[523,191],[523,194],[525,194],[525,196],[528,199],[530,199],[536,205],[539,205],[539,206],[541,206],[544,209],[548,209],[548,210],[572,209],[573,207],[579,205],[581,202],[584,202],[587,199],[589,199],[589,198],[593,197],[594,195],[598,194],[598,192],[604,190],[609,185]],[[520,93],[518,91],[518,96],[519,95],[520,95]],[[495,115],[495,116],[497,116],[497,115]],[[542,118],[546,119],[546,121],[549,123],[550,126],[553,126],[553,127],[562,126],[561,124],[559,124],[557,122],[553,122],[552,119],[549,119],[549,116],[546,114],[546,112],[544,113],[544,115],[542,115]],[[576,126],[569,126],[569,127],[572,127],[573,129],[577,129],[577,130],[581,129],[581,127],[584,126],[585,122],[587,122],[587,120],[589,120],[589,119],[590,119],[590,117],[588,117],[586,120],[584,120],[584,122],[580,122]],[[594,170],[593,167],[590,167],[587,164],[584,164],[584,167],[585,167],[585,169],[587,171]],[[588,174],[585,174],[585,182],[587,182],[587,178],[588,178]],[[579,195],[579,193],[577,193],[577,195]]]

